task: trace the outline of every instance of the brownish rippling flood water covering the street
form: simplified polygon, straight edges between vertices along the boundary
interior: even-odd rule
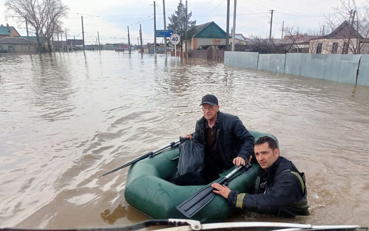
[[[369,87],[114,51],[0,54],[1,227],[149,219],[124,200],[127,169],[191,133],[205,94],[272,133],[306,173],[311,215],[230,221],[369,225]]]

